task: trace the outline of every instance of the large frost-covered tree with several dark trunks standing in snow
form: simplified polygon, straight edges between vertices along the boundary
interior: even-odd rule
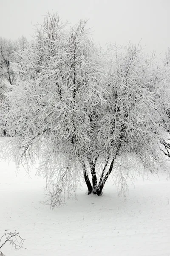
[[[124,191],[135,172],[164,167],[162,97],[170,94],[161,67],[139,46],[103,52],[86,21],[68,29],[48,14],[14,72],[8,111],[0,112],[13,138],[1,143],[2,153],[28,168],[39,161],[52,207],[76,190],[82,173],[88,194],[101,195],[111,173]]]

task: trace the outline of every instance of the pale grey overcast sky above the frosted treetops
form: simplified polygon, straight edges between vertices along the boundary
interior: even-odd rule
[[[47,11],[64,21],[89,19],[96,42],[147,45],[147,51],[170,47],[170,0],[0,0],[0,36],[30,39]]]

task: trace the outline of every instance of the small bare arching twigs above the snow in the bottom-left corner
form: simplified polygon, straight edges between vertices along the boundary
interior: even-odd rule
[[[20,250],[21,248],[26,249],[23,247],[23,241],[24,239],[20,236],[17,231],[14,233],[5,233],[1,238],[0,238],[0,256],[5,256],[3,252],[1,251],[1,248],[6,244],[10,243],[11,246],[14,246],[15,250]]]

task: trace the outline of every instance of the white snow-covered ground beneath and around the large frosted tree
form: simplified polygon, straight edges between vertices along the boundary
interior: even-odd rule
[[[139,178],[126,201],[110,183],[102,197],[77,192],[55,211],[40,204],[44,180],[0,162],[0,236],[17,230],[27,249],[6,256],[170,256],[170,180]],[[5,231],[7,230],[7,231]]]

